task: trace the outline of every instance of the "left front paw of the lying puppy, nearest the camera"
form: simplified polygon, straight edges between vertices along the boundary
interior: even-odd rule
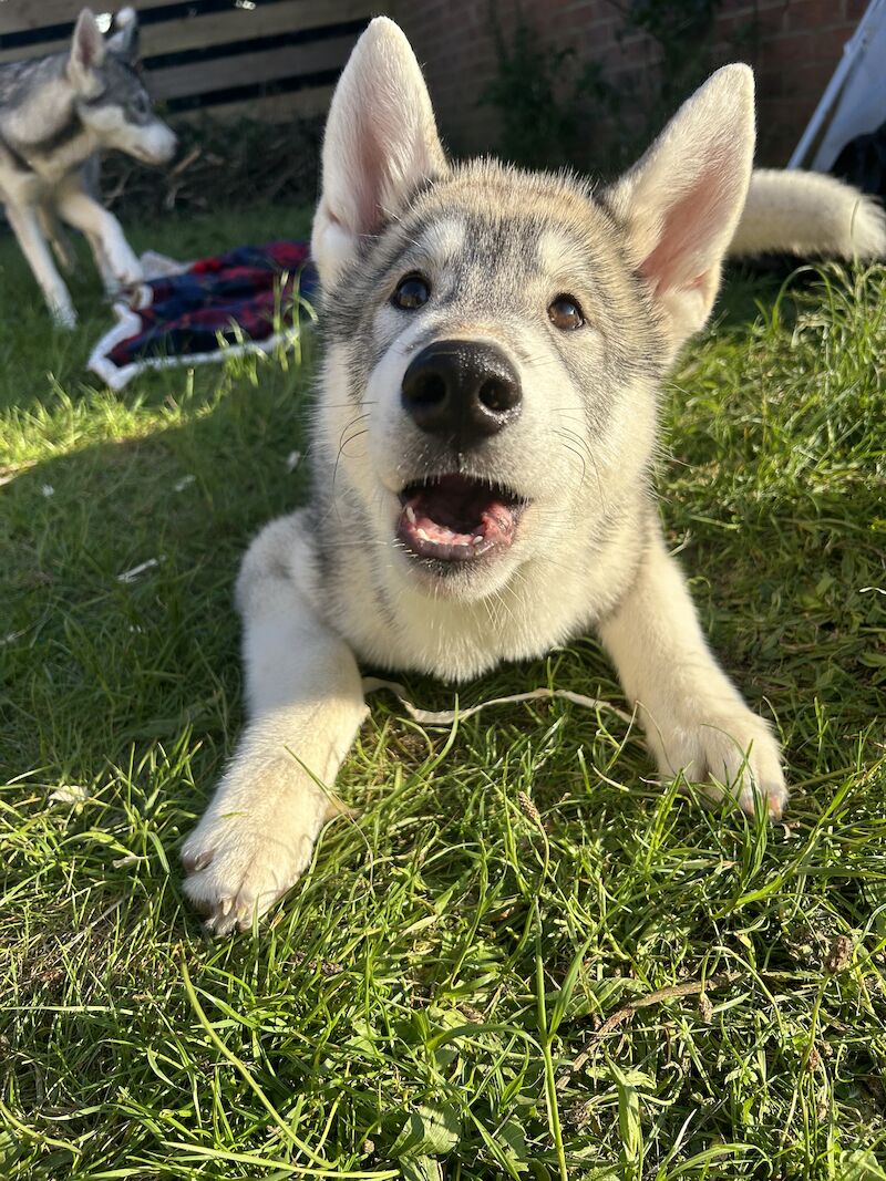
[[[184,893],[207,929],[248,931],[307,868],[328,815],[326,798],[291,762],[263,768],[247,784],[242,771],[222,782],[181,854]]]

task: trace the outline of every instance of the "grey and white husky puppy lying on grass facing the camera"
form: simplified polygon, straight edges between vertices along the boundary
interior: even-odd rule
[[[753,76],[732,65],[607,189],[450,164],[409,43],[369,26],[332,102],[313,226],[313,496],[246,555],[252,720],[182,850],[210,929],[248,927],[308,864],[331,814],[318,783],[366,712],[358,660],[465,680],[593,629],[663,776],[781,814],[778,744],[662,537],[658,390],[736,236],[852,255],[886,234],[836,182],[751,182],[753,155]]]

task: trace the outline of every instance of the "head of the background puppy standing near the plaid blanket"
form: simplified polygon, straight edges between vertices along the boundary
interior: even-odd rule
[[[175,154],[176,136],[155,115],[136,71],[137,59],[138,21],[132,8],[117,13],[106,40],[90,9],[83,9],[67,63],[80,122],[102,148],[124,151],[145,164],[165,164]]]

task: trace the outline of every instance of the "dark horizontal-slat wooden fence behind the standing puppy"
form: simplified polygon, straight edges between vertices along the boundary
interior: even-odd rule
[[[0,0],[0,63],[64,50],[82,7]],[[282,120],[325,111],[357,37],[384,4],[142,0],[136,8],[148,84],[167,111]],[[100,0],[93,12],[110,19]]]

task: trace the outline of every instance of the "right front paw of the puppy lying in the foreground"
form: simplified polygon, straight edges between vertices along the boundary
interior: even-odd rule
[[[731,795],[742,811],[754,815],[760,798],[773,820],[788,802],[781,750],[769,726],[756,713],[740,709],[686,720],[659,736],[658,761],[664,774],[683,771],[688,779],[706,783],[719,800]]]

